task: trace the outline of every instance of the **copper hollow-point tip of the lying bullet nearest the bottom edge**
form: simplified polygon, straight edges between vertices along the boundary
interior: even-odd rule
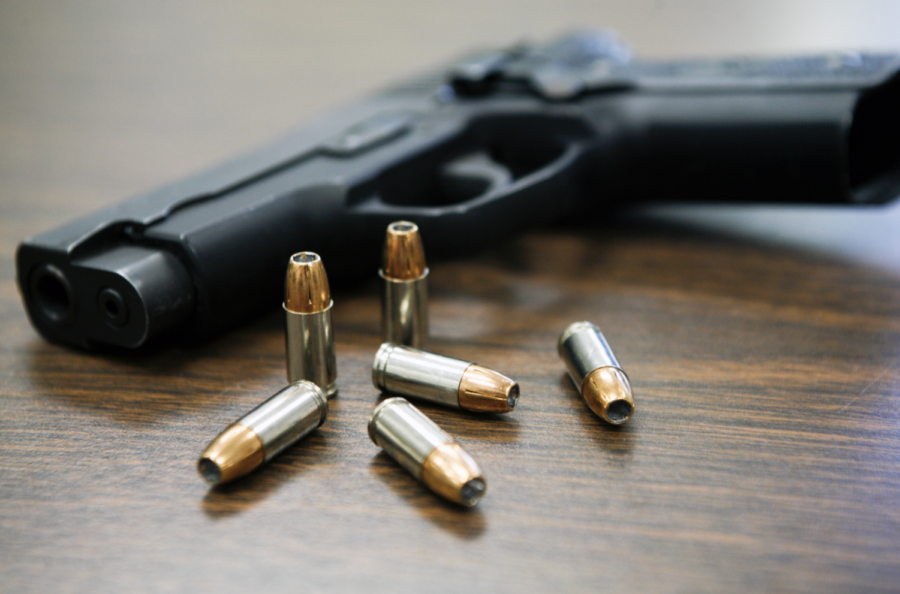
[[[422,482],[442,497],[466,507],[481,501],[487,491],[478,463],[456,442],[436,447],[425,458]]]

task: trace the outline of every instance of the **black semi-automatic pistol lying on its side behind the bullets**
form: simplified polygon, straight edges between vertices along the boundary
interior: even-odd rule
[[[900,56],[641,61],[615,35],[480,53],[268,147],[24,240],[48,340],[136,348],[281,301],[290,254],[377,267],[641,200],[883,203],[900,194]]]

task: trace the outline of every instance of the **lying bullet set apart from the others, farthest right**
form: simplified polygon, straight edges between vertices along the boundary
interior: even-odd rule
[[[559,337],[559,356],[582,398],[597,416],[621,425],[634,414],[631,384],[600,328],[575,322]]]

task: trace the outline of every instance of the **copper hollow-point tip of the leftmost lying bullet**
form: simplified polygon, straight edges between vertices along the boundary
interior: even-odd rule
[[[235,423],[206,446],[197,461],[197,472],[210,485],[221,485],[253,471],[265,458],[256,432]]]

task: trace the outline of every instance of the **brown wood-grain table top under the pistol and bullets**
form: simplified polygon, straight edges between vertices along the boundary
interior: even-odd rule
[[[374,272],[335,295],[340,393],[325,425],[208,490],[200,450],[285,381],[282,316],[138,355],[49,344],[13,280],[23,237],[495,31],[606,24],[673,55],[815,49],[829,31],[754,31],[768,21],[749,2],[711,9],[707,37],[688,26],[693,3],[687,16],[656,3],[248,6],[0,7],[0,591],[900,589],[900,272],[646,218],[432,265],[433,348],[522,390],[504,417],[421,406],[482,465],[476,509],[437,499],[369,441]],[[874,37],[834,39],[880,43],[882,20]],[[556,355],[581,319],[632,379],[624,427],[586,408]]]

